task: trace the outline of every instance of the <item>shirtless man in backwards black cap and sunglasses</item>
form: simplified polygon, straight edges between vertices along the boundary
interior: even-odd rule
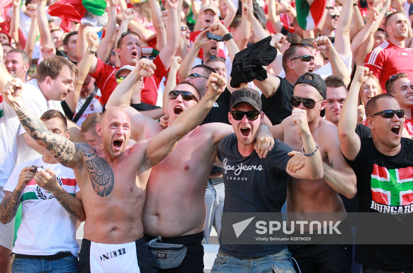
[[[310,132],[323,158],[324,176],[317,180],[292,177],[287,185],[287,212],[345,213],[338,193],[347,198],[353,198],[356,194],[356,177],[340,151],[337,127],[322,118],[325,114],[326,93],[324,80],[311,72],[302,75],[294,86],[291,104],[293,108],[305,109],[307,112]],[[295,151],[301,150],[303,142],[291,116],[273,126],[271,132],[276,139],[284,141]],[[289,248],[301,272],[320,272],[326,268],[328,272],[350,271],[351,246],[289,245]]]

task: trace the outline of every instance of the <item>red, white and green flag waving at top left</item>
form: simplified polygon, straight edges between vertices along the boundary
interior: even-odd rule
[[[107,24],[104,0],[61,0],[47,9],[50,16],[57,16],[55,24],[64,32],[71,31],[71,22],[85,26],[102,27]]]

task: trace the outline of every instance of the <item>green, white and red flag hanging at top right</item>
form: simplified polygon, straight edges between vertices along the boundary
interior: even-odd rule
[[[296,0],[297,21],[305,31],[311,31],[321,21],[327,0]]]

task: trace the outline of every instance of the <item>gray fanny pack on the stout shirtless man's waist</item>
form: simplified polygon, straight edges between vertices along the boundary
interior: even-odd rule
[[[147,246],[154,254],[160,269],[176,268],[182,264],[186,255],[186,245],[168,244],[162,241],[161,236],[147,242]]]

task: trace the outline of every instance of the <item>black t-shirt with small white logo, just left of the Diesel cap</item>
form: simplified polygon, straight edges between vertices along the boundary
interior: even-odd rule
[[[230,111],[231,92],[225,88],[224,92],[218,96],[208,115],[202,121],[202,124],[211,122],[222,122],[230,124],[228,120],[228,112]]]

